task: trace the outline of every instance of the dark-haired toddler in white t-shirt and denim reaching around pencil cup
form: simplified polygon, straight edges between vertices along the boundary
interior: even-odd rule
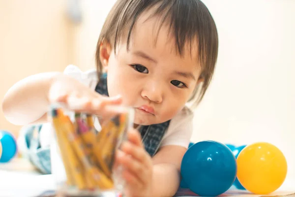
[[[116,158],[126,192],[173,196],[192,133],[186,104],[203,98],[217,51],[216,26],[202,1],[118,0],[98,39],[95,70],[68,66],[63,74],[23,79],[6,94],[3,112],[11,123],[27,125],[45,123],[56,101],[99,116],[111,112],[109,105],[133,107],[135,130]]]

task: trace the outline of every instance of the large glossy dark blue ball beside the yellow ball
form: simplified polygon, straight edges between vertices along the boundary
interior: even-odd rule
[[[225,193],[236,179],[236,158],[222,143],[201,141],[184,154],[181,176],[194,193],[218,196]]]

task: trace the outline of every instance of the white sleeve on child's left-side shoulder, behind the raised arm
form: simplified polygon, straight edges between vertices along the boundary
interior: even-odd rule
[[[97,72],[95,69],[90,69],[83,72],[78,66],[69,65],[64,69],[63,73],[74,77],[93,90],[95,89],[95,86],[98,82]]]

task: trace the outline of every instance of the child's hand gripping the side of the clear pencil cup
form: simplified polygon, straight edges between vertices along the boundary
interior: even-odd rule
[[[126,196],[150,197],[153,165],[138,131],[128,132],[128,141],[122,143],[121,151],[116,162],[123,167]]]

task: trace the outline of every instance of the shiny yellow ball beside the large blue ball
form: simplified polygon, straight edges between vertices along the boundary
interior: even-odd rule
[[[276,146],[266,142],[246,146],[236,163],[239,182],[254,194],[267,195],[276,191],[287,175],[285,156]]]

